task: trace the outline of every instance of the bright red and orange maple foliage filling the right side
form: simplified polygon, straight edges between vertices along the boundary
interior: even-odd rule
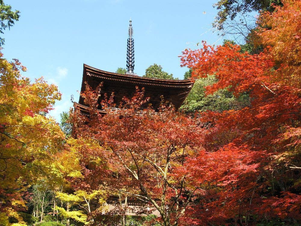
[[[257,31],[266,46],[259,54],[204,42],[181,56],[193,77],[215,74],[218,82],[206,87],[208,93],[227,87],[251,99],[240,110],[199,116],[205,150],[183,171],[197,175],[191,179],[208,192],[198,211],[191,210],[200,224],[300,220],[300,13],[299,1],[263,13],[259,23],[268,28]]]

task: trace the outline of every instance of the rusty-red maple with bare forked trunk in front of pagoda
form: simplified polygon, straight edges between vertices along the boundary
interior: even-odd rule
[[[121,193],[141,202],[139,211],[157,209],[164,225],[177,225],[198,188],[189,186],[185,177],[173,171],[185,166],[187,157],[200,150],[202,129],[194,119],[168,105],[162,105],[158,112],[151,107],[141,110],[148,98],[138,87],[131,99],[123,99],[119,110],[101,115],[98,92],[88,87],[82,96],[90,106],[89,115],[76,109],[72,118],[77,139],[91,147],[81,149],[90,159],[86,162],[93,174],[89,186],[106,184],[112,195]],[[112,98],[102,102],[104,109],[110,107]],[[98,163],[91,165],[91,160],[98,158]]]

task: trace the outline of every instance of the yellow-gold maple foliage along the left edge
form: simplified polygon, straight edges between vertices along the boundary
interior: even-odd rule
[[[15,210],[26,209],[22,195],[28,183],[51,176],[49,162],[62,149],[64,133],[45,114],[61,98],[57,86],[43,78],[22,77],[19,61],[0,58],[0,224]],[[52,159],[52,160],[51,160]],[[58,164],[58,162],[57,162]]]

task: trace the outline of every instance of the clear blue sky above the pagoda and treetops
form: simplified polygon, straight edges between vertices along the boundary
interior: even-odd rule
[[[213,33],[214,1],[126,0],[5,0],[20,10],[20,20],[2,37],[5,58],[19,59],[32,80],[43,76],[63,94],[51,116],[78,101],[83,64],[115,72],[126,67],[126,40],[132,18],[135,40],[135,70],[143,75],[151,64],[160,64],[174,77],[183,78],[178,55],[196,43],[222,43]]]

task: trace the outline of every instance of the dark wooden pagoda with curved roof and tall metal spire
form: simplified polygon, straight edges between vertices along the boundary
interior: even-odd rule
[[[129,38],[127,39],[126,74],[103,71],[84,64],[81,92],[85,91],[86,84],[92,89],[96,89],[102,83],[99,103],[104,99],[105,93],[108,96],[114,93],[114,103],[118,106],[123,97],[130,98],[134,95],[136,86],[140,89],[144,87],[144,95],[150,98],[149,103],[151,103],[155,110],[160,106],[161,96],[163,96],[165,101],[171,102],[175,109],[178,110],[190,92],[194,82],[191,80],[147,78],[135,74],[134,39],[132,36],[132,20],[130,20]],[[79,102],[75,103],[75,106],[81,109],[82,114],[88,114],[88,108],[85,106],[82,96],[79,97]],[[106,114],[106,111],[101,109],[100,106],[99,113]]]

